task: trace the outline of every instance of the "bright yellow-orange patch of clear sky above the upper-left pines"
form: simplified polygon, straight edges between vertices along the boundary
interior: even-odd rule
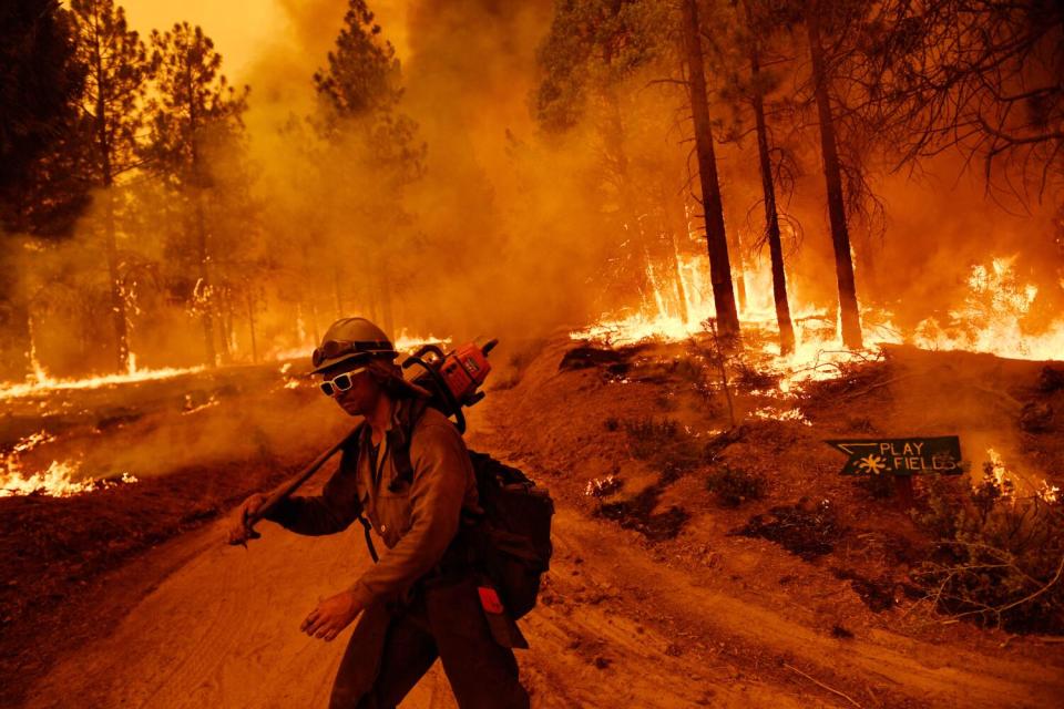
[[[340,18],[345,0],[117,0],[125,8],[130,25],[147,37],[153,29],[165,29],[174,22],[187,20],[203,27],[207,37],[224,58],[223,71],[235,83],[247,81],[244,75],[257,55],[295,30],[288,8],[318,8],[335,6],[332,14]],[[406,55],[406,0],[370,0],[385,33],[399,52]],[[321,32],[331,39],[337,27],[323,27]],[[325,56],[319,60],[321,63]]]

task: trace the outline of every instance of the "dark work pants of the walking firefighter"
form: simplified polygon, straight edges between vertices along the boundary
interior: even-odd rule
[[[368,608],[340,661],[329,707],[393,709],[437,657],[461,709],[529,707],[513,650],[491,635],[469,576],[427,584],[398,612]]]

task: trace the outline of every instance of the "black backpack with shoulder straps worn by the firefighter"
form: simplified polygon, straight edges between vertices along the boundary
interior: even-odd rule
[[[420,409],[420,410],[419,410]],[[416,407],[407,423],[412,431],[423,407]],[[392,464],[399,480],[413,480],[410,463],[410,435],[405,432],[399,445],[389,445]],[[521,618],[535,607],[540,580],[550,567],[551,517],[554,501],[550,493],[532,482],[516,467],[505,465],[487,453],[469,451],[477,475],[477,492],[482,517],[466,520],[466,536],[473,547],[474,563],[484,573],[502,597],[503,606],[513,619]],[[370,556],[377,552],[369,536],[370,524],[359,515],[366,532]]]

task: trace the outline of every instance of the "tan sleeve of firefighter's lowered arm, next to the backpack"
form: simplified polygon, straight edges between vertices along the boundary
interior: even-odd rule
[[[351,589],[365,607],[406,592],[443,557],[458,533],[472,464],[462,436],[450,423],[419,429],[410,446],[410,526]]]

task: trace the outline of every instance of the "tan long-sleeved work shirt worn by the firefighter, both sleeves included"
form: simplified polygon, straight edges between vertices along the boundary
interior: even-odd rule
[[[454,424],[428,408],[415,425],[409,442],[413,480],[398,480],[388,450],[402,440],[408,413],[400,401],[389,434],[372,470],[370,428],[348,443],[340,466],[316,497],[291,497],[267,518],[299,534],[323,535],[346,530],[362,512],[387,549],[352,590],[364,605],[398,598],[440,562],[458,533],[462,511],[480,512],[477,479],[466,443]],[[376,473],[376,474],[375,474]]]

